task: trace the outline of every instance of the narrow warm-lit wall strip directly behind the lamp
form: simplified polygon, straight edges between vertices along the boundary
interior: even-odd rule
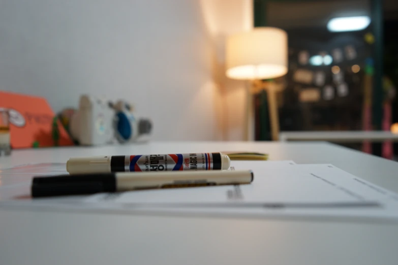
[[[248,83],[225,76],[225,41],[237,32],[253,28],[253,0],[201,0],[203,16],[212,36],[215,82],[220,88],[223,139],[246,140]]]

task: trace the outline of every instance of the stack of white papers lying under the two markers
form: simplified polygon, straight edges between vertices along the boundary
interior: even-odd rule
[[[331,164],[231,161],[253,170],[247,185],[140,190],[32,200],[33,176],[65,174],[65,164],[32,164],[0,171],[0,207],[156,212],[245,217],[371,218],[398,221],[398,195]]]

